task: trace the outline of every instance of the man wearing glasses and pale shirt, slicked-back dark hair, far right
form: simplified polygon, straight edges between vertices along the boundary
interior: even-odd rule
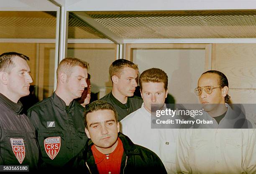
[[[209,124],[196,125],[196,128],[215,129],[180,130],[177,142],[178,172],[248,173],[249,168],[255,167],[248,165],[247,158],[251,153],[248,147],[253,146],[248,143],[252,141],[253,129],[231,128],[248,128],[255,127],[255,125],[225,104],[230,98],[227,77],[215,70],[203,73],[198,80],[195,94],[199,96],[199,101],[205,111],[202,116],[195,117],[195,119],[213,122],[210,126]],[[243,119],[239,120],[237,117]]]

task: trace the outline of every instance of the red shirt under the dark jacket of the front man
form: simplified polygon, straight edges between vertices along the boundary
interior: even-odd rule
[[[99,174],[120,174],[123,157],[123,143],[120,138],[118,138],[117,147],[111,154],[102,154],[94,144],[91,149]]]

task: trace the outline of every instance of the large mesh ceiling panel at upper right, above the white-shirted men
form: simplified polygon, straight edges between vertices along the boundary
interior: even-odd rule
[[[256,11],[87,12],[126,39],[256,37]]]

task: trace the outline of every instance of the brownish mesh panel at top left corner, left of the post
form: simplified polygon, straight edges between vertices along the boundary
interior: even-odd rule
[[[0,12],[0,38],[55,38],[56,12]]]

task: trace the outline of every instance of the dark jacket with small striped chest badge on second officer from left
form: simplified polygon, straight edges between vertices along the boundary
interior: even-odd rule
[[[40,148],[40,167],[49,169],[64,167],[65,164],[84,148],[87,136],[84,131],[82,107],[73,100],[66,111],[65,102],[55,94],[28,109],[28,117],[36,127],[36,138]],[[44,140],[61,137],[60,148],[54,159],[49,157]],[[48,153],[46,153],[48,151]]]

